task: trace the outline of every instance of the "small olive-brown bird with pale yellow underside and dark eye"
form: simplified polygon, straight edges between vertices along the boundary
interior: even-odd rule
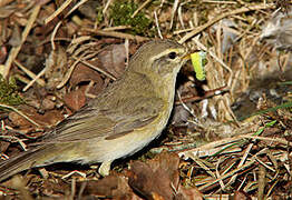
[[[176,76],[187,49],[172,40],[145,43],[125,73],[87,106],[47,132],[28,151],[0,163],[0,181],[57,162],[94,164],[109,174],[110,163],[157,138],[169,119]]]

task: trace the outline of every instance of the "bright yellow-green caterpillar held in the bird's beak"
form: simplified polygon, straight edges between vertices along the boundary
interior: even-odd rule
[[[197,51],[191,54],[191,60],[194,70],[196,72],[196,78],[197,80],[201,81],[206,79],[205,68],[204,68],[207,62],[206,54],[207,53],[205,51]]]

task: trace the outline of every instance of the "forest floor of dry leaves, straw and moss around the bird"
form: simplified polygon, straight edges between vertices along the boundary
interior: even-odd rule
[[[98,96],[148,40],[207,52],[205,81],[191,62],[181,71],[163,136],[110,176],[70,163],[31,169],[1,182],[0,199],[292,199],[290,7],[0,1],[1,160]]]

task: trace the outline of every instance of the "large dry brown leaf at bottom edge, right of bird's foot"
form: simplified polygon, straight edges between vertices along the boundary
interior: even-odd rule
[[[175,153],[162,153],[148,163],[135,161],[130,167],[129,186],[147,199],[173,199],[172,186],[178,186],[178,162]]]

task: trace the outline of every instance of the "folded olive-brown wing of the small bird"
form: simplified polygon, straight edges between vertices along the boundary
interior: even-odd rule
[[[135,97],[124,99],[123,107],[85,107],[48,132],[40,143],[77,142],[94,138],[115,139],[153,122],[163,104],[159,98]]]

